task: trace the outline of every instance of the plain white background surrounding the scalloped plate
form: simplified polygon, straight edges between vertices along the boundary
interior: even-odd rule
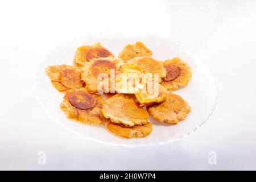
[[[256,169],[255,18],[255,1],[1,0],[0,169]],[[34,78],[48,52],[83,35],[158,35],[188,48],[216,77],[216,110],[196,133],[152,147],[70,133],[39,106]]]

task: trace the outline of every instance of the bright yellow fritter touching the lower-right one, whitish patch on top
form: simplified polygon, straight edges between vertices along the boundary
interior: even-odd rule
[[[168,91],[164,86],[160,85],[158,82],[152,81],[151,85],[147,82],[143,89],[139,89],[139,92],[135,93],[135,97],[140,104],[139,106],[142,107],[163,102],[166,100],[167,94]]]

